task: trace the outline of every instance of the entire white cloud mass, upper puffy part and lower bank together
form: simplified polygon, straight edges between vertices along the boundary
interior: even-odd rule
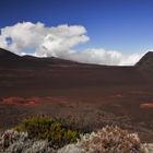
[[[116,50],[87,48],[74,49],[76,45],[86,43],[90,37],[81,25],[46,26],[43,23],[23,22],[1,28],[0,47],[19,55],[33,49],[34,56],[58,57],[86,63],[130,66],[143,55],[122,55]]]

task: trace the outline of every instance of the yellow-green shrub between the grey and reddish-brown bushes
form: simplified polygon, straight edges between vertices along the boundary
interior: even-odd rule
[[[15,130],[19,132],[27,131],[30,138],[48,139],[48,141],[58,146],[76,142],[76,139],[80,138],[78,130],[48,117],[25,119]]]

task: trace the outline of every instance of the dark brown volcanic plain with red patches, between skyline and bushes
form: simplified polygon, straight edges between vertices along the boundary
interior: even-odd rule
[[[4,52],[0,55],[1,126],[45,114],[71,117],[93,129],[118,125],[153,141],[153,109],[144,103],[153,101],[153,74],[144,70],[146,64],[106,67],[10,54],[7,58]]]

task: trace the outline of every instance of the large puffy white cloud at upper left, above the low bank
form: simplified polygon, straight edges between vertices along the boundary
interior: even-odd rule
[[[85,34],[86,30],[81,25],[47,27],[39,22],[23,22],[1,28],[0,46],[17,54],[35,49],[39,55],[51,56],[54,51],[69,50],[80,43],[87,42],[89,37]],[[12,39],[10,45],[5,40],[8,37]]]

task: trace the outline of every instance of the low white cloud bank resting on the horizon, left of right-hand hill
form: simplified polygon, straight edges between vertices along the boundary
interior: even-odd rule
[[[123,55],[115,50],[105,50],[102,48],[89,48],[82,51],[69,50],[61,55],[57,52],[57,57],[70,59],[84,63],[97,63],[107,66],[133,66],[144,54]]]

